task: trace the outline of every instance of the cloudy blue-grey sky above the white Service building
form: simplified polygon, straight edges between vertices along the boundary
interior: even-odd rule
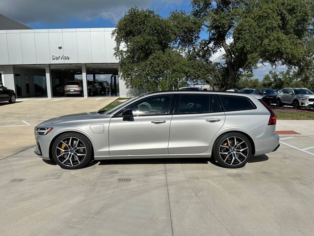
[[[1,14],[24,24],[62,23],[73,18],[98,17],[116,23],[133,6],[147,8],[154,3],[180,4],[182,0],[1,0]]]

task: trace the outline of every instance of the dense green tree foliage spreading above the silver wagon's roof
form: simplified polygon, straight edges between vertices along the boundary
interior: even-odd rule
[[[191,0],[191,5],[190,13],[174,11],[167,18],[131,8],[118,22],[115,56],[127,87],[173,89],[200,80],[219,89],[314,86],[314,0]],[[208,37],[200,40],[202,30]],[[221,48],[223,62],[212,62]],[[297,79],[246,78],[260,62],[293,68]]]

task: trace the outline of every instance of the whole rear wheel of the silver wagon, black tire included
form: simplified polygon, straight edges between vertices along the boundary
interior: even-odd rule
[[[226,140],[229,138],[229,141]],[[244,143],[241,144],[241,142],[244,141]],[[229,142],[229,144],[228,144]],[[235,144],[236,143],[236,144]],[[225,148],[224,145],[228,144],[228,147],[234,147],[234,148]],[[233,145],[235,144],[235,145]],[[236,146],[239,145],[240,146]],[[220,149],[222,148],[222,149]],[[233,149],[237,149],[237,148],[241,148],[240,150],[244,149],[242,154],[244,154],[244,156],[246,156],[244,158],[244,156],[242,156],[242,154],[237,153],[231,153],[228,154],[229,152],[231,152]],[[226,154],[221,154],[221,153],[226,153]],[[249,159],[252,156],[252,145],[250,140],[241,133],[238,132],[230,132],[230,133],[226,133],[223,134],[222,136],[220,136],[214,143],[213,145],[213,150],[212,150],[212,154],[215,158],[215,160],[223,167],[225,168],[241,168],[243,166],[245,166],[245,164],[249,161]],[[233,158],[233,155],[236,156],[236,158]],[[223,159],[224,158],[224,159]],[[233,159],[233,160],[232,160]]]

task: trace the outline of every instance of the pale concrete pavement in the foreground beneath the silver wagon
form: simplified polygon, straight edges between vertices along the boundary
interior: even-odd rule
[[[0,235],[313,235],[313,155],[282,145],[241,169],[208,161],[108,160],[70,171],[29,148],[0,160]]]

